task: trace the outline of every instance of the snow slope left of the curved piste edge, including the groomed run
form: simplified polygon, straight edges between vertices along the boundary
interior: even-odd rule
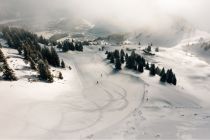
[[[130,114],[142,98],[143,81],[114,74],[95,52],[60,54],[73,68],[62,71],[64,81],[1,81],[0,139],[79,139]]]

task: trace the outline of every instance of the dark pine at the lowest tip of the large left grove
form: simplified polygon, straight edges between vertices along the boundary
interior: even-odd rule
[[[53,76],[50,70],[48,69],[48,66],[42,60],[38,62],[38,72],[40,74],[39,78],[41,80],[45,80],[50,83],[53,82]]]

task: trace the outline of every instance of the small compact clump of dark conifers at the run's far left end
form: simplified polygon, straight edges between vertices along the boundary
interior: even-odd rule
[[[63,43],[58,43],[58,49],[61,49],[63,52],[67,51],[83,51],[83,43],[82,42],[70,42],[69,40],[65,40]]]

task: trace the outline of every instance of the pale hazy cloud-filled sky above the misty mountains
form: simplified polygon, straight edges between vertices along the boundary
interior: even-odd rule
[[[0,19],[8,16],[77,16],[125,27],[163,28],[183,18],[210,31],[210,0],[0,0]]]

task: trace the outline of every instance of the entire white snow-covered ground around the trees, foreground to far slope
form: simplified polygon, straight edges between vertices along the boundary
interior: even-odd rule
[[[113,71],[100,46],[59,53],[68,67],[64,80],[28,82],[36,74],[17,52],[3,48],[19,80],[0,81],[0,139],[209,139],[210,64],[183,49],[161,48],[145,56],[172,68],[178,85],[123,69]],[[141,48],[106,46],[106,50]],[[143,55],[143,54],[142,54]],[[16,57],[15,57],[16,56]],[[101,75],[102,74],[102,75]],[[99,84],[97,84],[97,81]]]

